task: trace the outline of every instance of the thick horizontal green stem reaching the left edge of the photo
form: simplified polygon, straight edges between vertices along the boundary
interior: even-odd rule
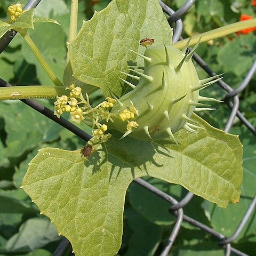
[[[65,90],[64,86],[10,86],[0,88],[0,100],[51,99],[69,93],[70,91]]]

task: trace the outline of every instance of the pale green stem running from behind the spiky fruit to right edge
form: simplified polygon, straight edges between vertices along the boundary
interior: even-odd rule
[[[202,42],[206,42],[209,41],[211,39],[214,38],[218,38],[221,36],[226,36],[232,33],[235,33],[237,31],[243,30],[243,29],[247,29],[247,28],[252,28],[256,26],[256,18],[255,19],[250,19],[250,20],[245,20],[245,21],[239,21],[227,26],[223,26],[221,28],[217,28],[217,29],[213,29],[211,31],[199,34],[199,35],[195,35],[191,38],[191,41],[189,43],[189,46],[194,45],[198,42],[199,38],[201,37],[201,43]],[[174,46],[177,49],[182,49],[186,43],[188,42],[189,38],[186,38],[182,41],[179,41],[175,44],[172,44],[172,46]]]

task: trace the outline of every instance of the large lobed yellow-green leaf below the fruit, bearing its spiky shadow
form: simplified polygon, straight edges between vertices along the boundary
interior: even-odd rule
[[[241,142],[196,115],[193,118],[206,130],[197,134],[180,130],[176,133],[180,145],[129,137],[119,141],[121,134],[113,132],[87,158],[83,149],[41,149],[22,186],[69,239],[76,255],[114,255],[121,245],[125,193],[135,178],[177,183],[221,207],[238,202]]]

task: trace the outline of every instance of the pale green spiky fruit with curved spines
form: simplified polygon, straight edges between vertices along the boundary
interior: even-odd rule
[[[133,90],[123,95],[111,112],[122,113],[132,102],[139,115],[135,115],[131,121],[137,122],[139,126],[127,131],[127,123],[114,118],[110,127],[124,133],[123,137],[130,135],[144,141],[171,138],[176,142],[173,134],[181,128],[198,132],[193,128],[199,127],[188,122],[193,122],[189,117],[193,111],[201,110],[197,106],[205,106],[198,103],[199,100],[214,100],[200,97],[199,90],[218,78],[199,80],[191,61],[197,46],[198,44],[190,53],[186,53],[187,46],[180,51],[166,45],[151,45],[147,47],[144,55],[132,51],[145,60],[144,71],[141,73],[130,69],[130,74],[123,73],[139,80],[139,83],[134,86],[121,78]]]

